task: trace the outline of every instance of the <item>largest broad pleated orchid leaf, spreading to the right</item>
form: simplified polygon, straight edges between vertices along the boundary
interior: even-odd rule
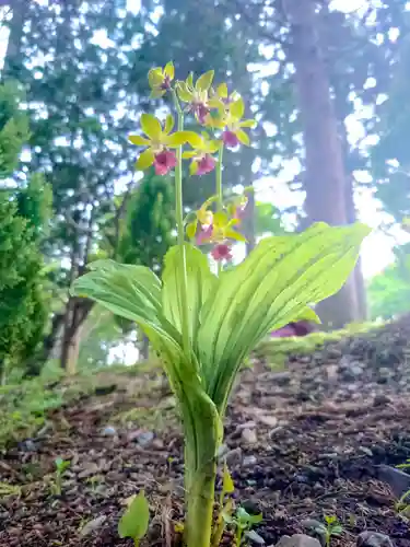
[[[302,234],[262,240],[238,267],[221,275],[202,307],[198,334],[207,393],[221,415],[242,360],[270,329],[337,292],[368,233],[363,224],[317,223]]]

